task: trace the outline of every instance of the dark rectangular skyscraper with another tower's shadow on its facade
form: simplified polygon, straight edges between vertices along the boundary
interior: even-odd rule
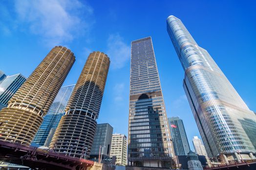
[[[131,42],[128,165],[174,167],[151,37]]]

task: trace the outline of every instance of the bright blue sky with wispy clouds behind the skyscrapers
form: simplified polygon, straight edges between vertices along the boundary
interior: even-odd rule
[[[200,135],[166,19],[183,21],[256,111],[255,6],[253,0],[1,0],[0,69],[28,77],[52,47],[63,45],[76,56],[64,82],[71,85],[89,52],[104,51],[111,64],[98,122],[127,135],[130,41],[152,36],[168,117],[183,119],[192,147],[192,137]]]

